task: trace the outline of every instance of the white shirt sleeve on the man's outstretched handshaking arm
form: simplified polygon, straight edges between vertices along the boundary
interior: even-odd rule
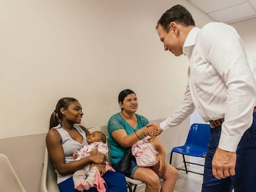
[[[166,120],[160,123],[160,128],[164,131],[169,127],[179,125],[183,120],[187,119],[194,110],[194,102],[189,91],[189,85],[187,85],[185,98],[183,99],[181,106],[179,106],[173,114],[169,115]]]

